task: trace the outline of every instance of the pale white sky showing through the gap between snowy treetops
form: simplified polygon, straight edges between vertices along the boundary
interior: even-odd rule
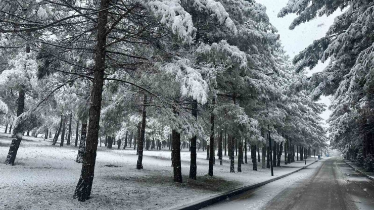
[[[273,24],[276,29],[278,29],[280,40],[282,41],[285,50],[291,59],[293,59],[294,56],[299,53],[299,51],[311,44],[313,40],[323,37],[326,31],[328,31],[330,25],[333,24],[334,18],[341,14],[340,11],[336,11],[329,17],[317,17],[310,22],[302,23],[301,25],[296,26],[294,30],[289,30],[288,27],[294,18],[297,17],[297,15],[289,14],[284,18],[277,18],[279,10],[286,6],[288,0],[257,0],[256,2],[266,6],[266,14],[269,16],[270,23]],[[319,64],[314,67],[312,71],[309,71],[307,75],[322,71],[326,64],[327,62],[324,64],[319,62]],[[319,102],[325,103],[327,106],[330,106],[331,103],[330,99],[325,96],[321,96],[321,100]],[[321,114],[321,117],[324,120],[327,120],[330,113],[330,110],[326,110]]]

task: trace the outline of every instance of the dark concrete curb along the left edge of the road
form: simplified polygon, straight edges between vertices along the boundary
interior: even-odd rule
[[[324,159],[324,158],[321,158],[321,159]],[[231,190],[231,191],[228,191],[228,192],[224,192],[224,193],[221,193],[221,194],[218,194],[218,195],[213,195],[211,197],[207,197],[207,198],[202,199],[202,200],[198,200],[198,201],[195,201],[195,202],[192,202],[192,203],[189,203],[189,204],[185,204],[185,205],[182,205],[182,206],[172,208],[171,210],[195,210],[195,209],[200,209],[200,208],[206,207],[206,206],[211,205],[213,203],[225,200],[229,197],[239,195],[239,194],[244,193],[248,190],[252,190],[252,189],[255,189],[255,188],[260,187],[262,185],[265,185],[265,184],[268,184],[270,182],[276,181],[278,179],[282,179],[284,177],[287,177],[291,174],[294,174],[294,173],[296,173],[300,170],[303,170],[303,169],[307,168],[308,166],[314,164],[315,162],[317,162],[321,159],[318,159],[318,160],[314,161],[313,163],[311,163],[309,165],[306,165],[306,166],[303,166],[300,169],[298,169],[296,171],[293,171],[293,172],[290,172],[288,174],[284,174],[282,176],[279,176],[279,177],[276,177],[276,178],[273,178],[273,179],[269,179],[269,180],[264,181],[264,182],[255,183],[255,184],[252,184],[252,185],[249,185],[249,186],[241,187],[241,188]]]

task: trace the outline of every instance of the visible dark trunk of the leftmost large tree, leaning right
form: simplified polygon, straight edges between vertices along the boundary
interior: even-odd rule
[[[26,49],[26,53],[30,53],[30,48],[28,47]],[[23,113],[23,110],[25,108],[25,90],[23,87],[21,87],[21,90],[19,91],[18,100],[17,100],[17,117],[20,116]],[[9,129],[9,133],[12,131],[12,124]],[[14,166],[14,161],[16,160],[17,151],[20,146],[20,143],[22,141],[22,132],[23,130],[16,126],[12,133],[12,143],[9,147],[9,152],[7,155],[7,159],[5,160],[5,164]]]

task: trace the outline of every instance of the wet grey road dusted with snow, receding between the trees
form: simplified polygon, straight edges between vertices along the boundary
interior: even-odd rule
[[[374,209],[374,182],[342,159],[326,158],[204,209]]]

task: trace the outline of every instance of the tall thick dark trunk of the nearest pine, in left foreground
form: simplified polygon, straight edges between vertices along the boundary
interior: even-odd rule
[[[94,80],[92,82],[91,101],[89,108],[89,124],[86,139],[86,149],[83,156],[81,175],[75,189],[74,197],[79,201],[85,201],[91,194],[92,181],[96,163],[96,151],[98,149],[101,101],[105,73],[105,45],[107,41],[108,8],[110,0],[101,0],[98,14],[96,58],[94,67]]]

